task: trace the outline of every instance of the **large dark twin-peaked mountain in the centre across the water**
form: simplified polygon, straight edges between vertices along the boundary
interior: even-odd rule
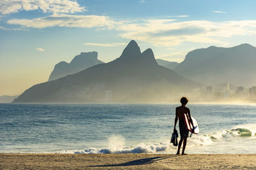
[[[200,86],[159,66],[150,48],[141,53],[131,41],[117,59],[79,73],[34,85],[15,103],[92,103],[177,101],[180,92]]]

